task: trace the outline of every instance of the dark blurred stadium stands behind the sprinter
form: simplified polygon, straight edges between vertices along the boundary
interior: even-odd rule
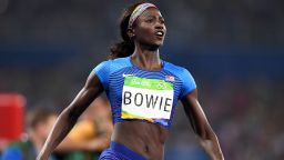
[[[132,2],[0,0],[0,92],[23,96],[26,112],[62,111],[120,40],[119,18]],[[168,27],[162,58],[195,78],[225,158],[284,159],[284,1],[150,2]],[[207,159],[182,106],[165,154]]]

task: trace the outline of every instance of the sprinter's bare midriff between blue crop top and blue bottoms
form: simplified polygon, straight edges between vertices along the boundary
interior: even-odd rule
[[[114,124],[112,141],[119,142],[148,160],[163,160],[164,143],[169,131],[162,126],[123,121]]]

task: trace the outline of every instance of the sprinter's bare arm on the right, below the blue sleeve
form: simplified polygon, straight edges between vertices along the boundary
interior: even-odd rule
[[[199,136],[201,146],[212,160],[224,160],[217,137],[199,103],[197,90],[194,89],[191,93],[184,96],[181,101],[194,132]]]

